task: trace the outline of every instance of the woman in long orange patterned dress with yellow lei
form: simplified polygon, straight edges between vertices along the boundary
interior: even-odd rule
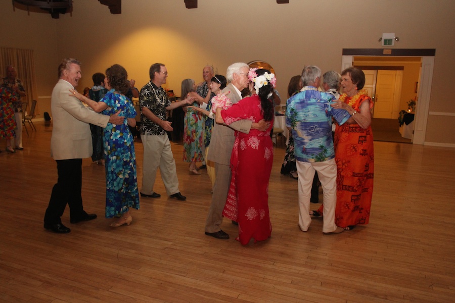
[[[365,74],[350,67],[341,73],[343,94],[335,108],[348,111],[349,120],[335,129],[337,163],[337,207],[335,224],[349,230],[368,224],[373,196],[374,149],[371,130],[372,99],[365,85]],[[322,207],[310,215],[322,214]]]

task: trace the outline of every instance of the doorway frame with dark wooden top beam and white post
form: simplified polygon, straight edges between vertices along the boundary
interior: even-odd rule
[[[433,79],[435,49],[376,49],[376,48],[344,48],[342,55],[341,69],[344,70],[354,65],[354,58],[379,58],[386,61],[386,58],[398,57],[403,60],[406,57],[418,57],[421,61],[421,72],[419,76],[417,92],[418,103],[416,107],[414,123],[414,144],[424,144],[426,126],[429,112],[431,94],[431,83]],[[382,65],[382,64],[381,64]],[[416,93],[416,92],[415,92]]]

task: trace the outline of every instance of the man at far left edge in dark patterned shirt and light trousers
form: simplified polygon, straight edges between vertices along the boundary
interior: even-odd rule
[[[22,150],[24,147],[22,146],[22,101],[21,97],[25,97],[25,88],[22,85],[22,81],[16,78],[17,73],[16,69],[8,65],[6,69],[7,77],[3,78],[3,85],[10,89],[13,94],[16,95],[16,101],[13,102],[14,108],[14,119],[16,120],[17,131],[16,131],[16,139],[15,145],[16,149]],[[25,113],[24,113],[25,115]]]

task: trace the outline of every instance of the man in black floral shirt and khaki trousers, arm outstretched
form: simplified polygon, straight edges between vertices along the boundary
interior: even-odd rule
[[[139,94],[141,107],[141,140],[144,145],[144,163],[142,172],[141,196],[158,198],[161,195],[153,191],[156,171],[160,168],[161,178],[167,195],[178,200],[187,197],[178,189],[177,171],[166,131],[172,131],[171,122],[166,119],[166,111],[193,103],[193,98],[186,98],[171,103],[166,91],[161,87],[166,83],[167,69],[164,64],[155,63],[150,67],[150,82]]]

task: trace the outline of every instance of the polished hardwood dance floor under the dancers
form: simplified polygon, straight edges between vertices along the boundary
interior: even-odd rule
[[[50,157],[52,125],[35,123],[24,147],[0,142],[1,302],[454,302],[455,149],[375,142],[370,224],[323,235],[315,218],[297,226],[297,181],[280,175],[275,148],[269,186],[272,236],[242,246],[231,235],[204,235],[210,204],[205,173],[189,175],[173,144],[184,202],[141,198],[129,226],[104,218],[104,167],[83,161],[83,203],[98,219],[70,224],[70,234],[43,229],[57,180]],[[142,182],[143,147],[135,144]],[[315,209],[318,205],[311,205]]]

